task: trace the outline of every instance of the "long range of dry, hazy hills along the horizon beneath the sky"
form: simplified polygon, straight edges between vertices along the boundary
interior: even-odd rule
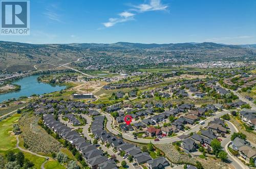
[[[10,72],[19,70],[52,69],[60,64],[76,61],[86,56],[108,55],[118,56],[150,56],[153,53],[139,50],[151,50],[155,55],[164,54],[165,51],[174,51],[175,54],[188,53],[199,56],[204,53],[217,53],[225,57],[255,57],[256,44],[227,45],[212,42],[203,43],[169,43],[169,44],[144,44],[117,42],[103,43],[71,43],[71,44],[28,44],[18,42],[0,41],[0,71],[7,69]],[[189,50],[184,52],[183,50]],[[156,51],[156,52],[155,52]],[[159,53],[157,53],[159,52]],[[157,53],[157,54],[156,54]],[[219,53],[219,54],[218,54]],[[179,54],[178,54],[179,55]]]

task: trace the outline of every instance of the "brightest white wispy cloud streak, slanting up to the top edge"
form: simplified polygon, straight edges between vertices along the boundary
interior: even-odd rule
[[[150,0],[149,4],[140,4],[137,6],[133,6],[131,11],[136,11],[136,13],[142,13],[147,11],[164,11],[168,8],[167,5],[161,4],[161,0]],[[135,13],[131,12],[121,12],[118,14],[119,18],[109,18],[108,22],[102,23],[105,27],[114,26],[117,23],[126,22],[129,20],[134,20]],[[100,29],[98,29],[100,30]]]

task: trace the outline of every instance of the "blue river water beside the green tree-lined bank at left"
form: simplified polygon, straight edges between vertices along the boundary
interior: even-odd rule
[[[20,86],[20,90],[16,92],[0,94],[0,103],[11,98],[17,99],[21,96],[29,97],[33,94],[41,95],[45,93],[60,91],[61,89],[66,88],[65,86],[50,85],[48,83],[39,82],[37,81],[38,76],[39,75],[27,76],[14,81],[14,84]]]

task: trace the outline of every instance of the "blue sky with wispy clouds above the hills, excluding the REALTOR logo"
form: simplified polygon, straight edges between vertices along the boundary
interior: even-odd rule
[[[255,0],[31,0],[25,43],[256,43]]]

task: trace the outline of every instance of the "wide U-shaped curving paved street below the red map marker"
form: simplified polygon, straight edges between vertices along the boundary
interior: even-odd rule
[[[131,140],[132,142],[139,142],[139,143],[154,143],[154,144],[165,144],[165,143],[173,143],[173,142],[177,142],[177,141],[180,141],[180,138],[178,138],[178,136],[182,135],[182,134],[189,134],[190,132],[197,132],[200,130],[201,127],[206,127],[208,125],[208,123],[212,120],[214,120],[215,118],[219,118],[221,117],[222,115],[225,115],[225,114],[228,114],[230,111],[229,110],[224,110],[224,111],[220,111],[220,112],[217,112],[217,114],[215,116],[212,116],[212,117],[209,117],[208,119],[205,120],[205,124],[203,125],[196,125],[194,126],[193,128],[187,130],[187,131],[184,131],[182,132],[181,134],[175,136],[175,137],[168,137],[168,138],[161,138],[158,142],[155,142],[155,140],[153,139],[144,139],[144,138],[137,138],[137,139],[134,139],[133,136],[131,135],[128,135],[127,133],[124,133],[124,132],[121,132],[121,131],[118,131],[116,130],[113,125],[114,125],[114,118],[104,112],[104,111],[101,111],[99,110],[103,115],[106,116],[106,118],[108,119],[108,122],[106,124],[106,128],[113,134],[119,134],[119,133],[122,133],[122,137],[124,139],[127,139],[127,140]]]

